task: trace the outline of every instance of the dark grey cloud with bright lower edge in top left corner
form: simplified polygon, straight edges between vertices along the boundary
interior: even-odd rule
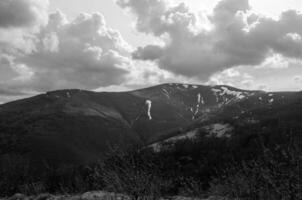
[[[48,21],[48,0],[0,1],[0,54],[30,53],[34,33]]]

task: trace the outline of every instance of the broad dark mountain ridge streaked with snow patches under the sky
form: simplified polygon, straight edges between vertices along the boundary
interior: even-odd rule
[[[302,121],[302,93],[164,84],[130,92],[61,90],[0,106],[0,161],[74,164],[119,145],[158,145],[203,129],[231,137],[236,123]],[[302,130],[302,129],[301,129]],[[189,135],[190,136],[190,135]]]

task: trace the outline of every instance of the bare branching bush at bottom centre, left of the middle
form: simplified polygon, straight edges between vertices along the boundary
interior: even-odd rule
[[[103,166],[103,180],[107,190],[133,199],[159,199],[171,185],[160,176],[152,158],[137,149],[111,151]]]

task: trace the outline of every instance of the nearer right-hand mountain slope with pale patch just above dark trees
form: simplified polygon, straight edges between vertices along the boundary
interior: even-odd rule
[[[158,152],[186,139],[230,138],[246,132],[245,129],[262,129],[262,132],[269,129],[277,133],[285,127],[302,140],[302,92],[255,92],[240,101],[220,106],[206,120],[196,120],[183,131],[171,132],[149,147]]]

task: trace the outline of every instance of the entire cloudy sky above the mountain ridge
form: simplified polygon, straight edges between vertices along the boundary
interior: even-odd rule
[[[0,103],[160,83],[302,88],[300,0],[1,0]]]

